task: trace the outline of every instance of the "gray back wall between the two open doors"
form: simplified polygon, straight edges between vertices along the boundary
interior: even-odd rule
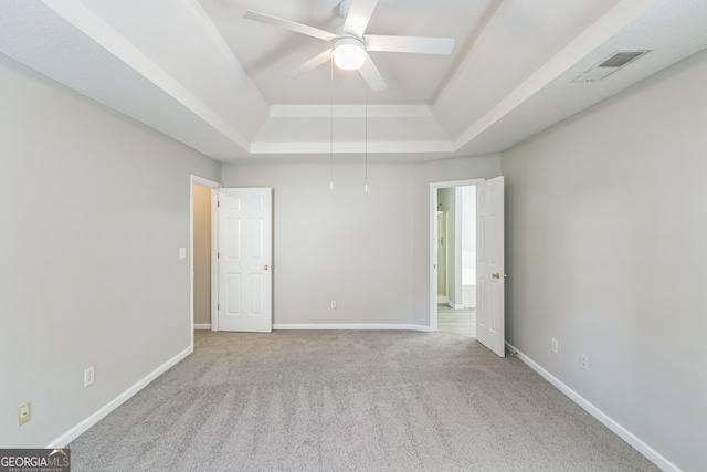
[[[274,189],[276,324],[430,323],[430,182],[494,177],[499,156],[433,164],[231,165],[224,187]],[[337,301],[337,308],[329,307]]]

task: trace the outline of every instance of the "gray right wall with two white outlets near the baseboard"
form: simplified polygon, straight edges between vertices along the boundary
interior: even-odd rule
[[[503,155],[508,340],[690,471],[707,438],[706,77],[700,53]]]

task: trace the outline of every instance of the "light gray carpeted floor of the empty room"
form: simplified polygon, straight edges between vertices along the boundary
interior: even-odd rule
[[[653,471],[519,359],[442,333],[197,332],[80,471]]]

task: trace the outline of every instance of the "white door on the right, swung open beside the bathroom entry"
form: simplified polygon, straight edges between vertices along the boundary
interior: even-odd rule
[[[476,339],[505,357],[503,176],[476,185]]]

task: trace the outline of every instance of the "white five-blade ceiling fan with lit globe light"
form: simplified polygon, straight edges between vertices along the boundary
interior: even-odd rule
[[[378,0],[344,0],[339,6],[346,18],[344,27],[336,33],[309,27],[257,11],[247,10],[244,18],[284,28],[331,43],[331,48],[315,55],[309,61],[291,71],[287,75],[297,77],[334,59],[344,70],[358,70],[368,86],[378,92],[388,85],[373,64],[371,52],[407,52],[421,54],[451,54],[454,40],[447,38],[391,36],[365,34]]]

